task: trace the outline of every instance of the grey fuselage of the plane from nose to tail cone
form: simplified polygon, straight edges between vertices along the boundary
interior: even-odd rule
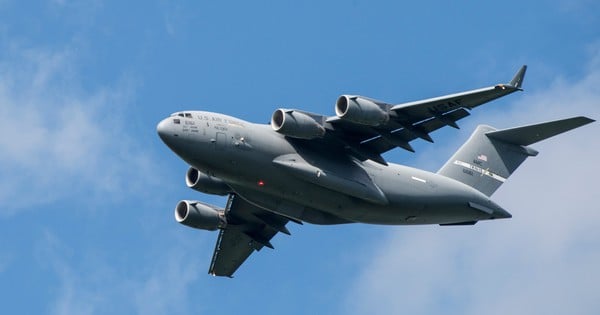
[[[183,114],[185,113],[185,114]],[[435,173],[360,161],[331,139],[203,111],[174,114],[161,139],[192,167],[266,210],[314,224],[452,224],[510,217],[486,195]]]

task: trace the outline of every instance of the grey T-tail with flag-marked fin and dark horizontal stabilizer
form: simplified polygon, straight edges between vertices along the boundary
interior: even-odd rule
[[[491,196],[526,158],[538,154],[529,145],[593,121],[573,117],[504,130],[480,125],[438,174]]]

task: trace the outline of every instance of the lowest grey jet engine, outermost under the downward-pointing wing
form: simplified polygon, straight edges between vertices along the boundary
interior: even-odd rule
[[[181,200],[175,206],[175,220],[196,229],[214,231],[227,226],[225,211],[195,200]]]

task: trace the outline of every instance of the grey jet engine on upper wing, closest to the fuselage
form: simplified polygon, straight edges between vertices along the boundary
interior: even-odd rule
[[[315,139],[325,135],[325,128],[313,117],[300,111],[278,109],[271,116],[273,130],[299,139]]]

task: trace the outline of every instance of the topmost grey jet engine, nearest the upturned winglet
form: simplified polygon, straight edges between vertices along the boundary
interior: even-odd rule
[[[342,119],[367,126],[379,126],[390,119],[385,104],[358,95],[340,96],[335,102],[335,113]]]

